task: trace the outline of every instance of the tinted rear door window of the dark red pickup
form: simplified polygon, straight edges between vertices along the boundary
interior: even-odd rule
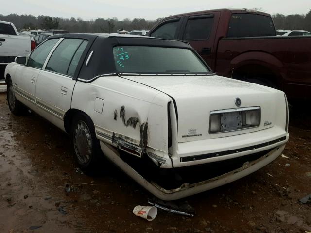
[[[213,27],[213,15],[189,17],[183,40],[208,39]]]

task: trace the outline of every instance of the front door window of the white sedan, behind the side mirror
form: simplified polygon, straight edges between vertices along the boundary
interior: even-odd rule
[[[29,67],[42,68],[45,59],[49,55],[50,51],[57,43],[58,39],[52,39],[44,42],[38,46],[31,54],[28,60]]]

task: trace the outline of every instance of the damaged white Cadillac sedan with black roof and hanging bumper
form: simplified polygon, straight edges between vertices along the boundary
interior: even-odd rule
[[[81,168],[104,154],[162,200],[244,177],[289,137],[283,92],[215,75],[182,41],[54,35],[5,77],[11,112],[68,133]]]

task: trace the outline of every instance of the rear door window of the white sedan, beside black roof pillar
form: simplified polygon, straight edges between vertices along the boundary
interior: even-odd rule
[[[64,39],[54,50],[45,69],[67,75],[71,60],[82,43],[82,39]]]

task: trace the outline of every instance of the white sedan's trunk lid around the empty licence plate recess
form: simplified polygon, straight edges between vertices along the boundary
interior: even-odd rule
[[[275,122],[275,92],[269,87],[216,75],[122,77],[155,88],[173,98],[178,115],[178,142],[250,133],[273,127]],[[236,98],[241,99],[240,106],[236,106]],[[209,133],[211,112],[225,109],[237,111],[237,108],[248,107],[260,107],[258,127]]]

